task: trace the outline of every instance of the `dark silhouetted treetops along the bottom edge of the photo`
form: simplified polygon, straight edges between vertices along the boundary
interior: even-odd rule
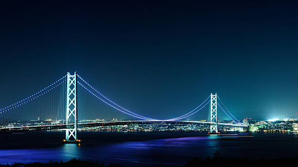
[[[254,166],[254,167],[264,167],[264,166],[282,166],[287,163],[297,162],[298,157],[284,157],[276,159],[248,159],[240,157],[223,157],[218,152],[214,154],[214,157],[207,157],[205,159],[200,159],[194,157],[183,167],[203,167],[207,165],[211,166]],[[141,167],[142,165],[140,165]],[[92,162],[92,161],[82,161],[79,159],[71,159],[67,162],[49,162],[49,163],[30,163],[30,164],[19,164],[15,163],[13,165],[0,165],[0,167],[125,167],[120,164],[110,164],[105,165],[104,163]],[[155,167],[155,166],[152,166]],[[157,166],[156,166],[157,167]],[[160,167],[160,166],[158,166]]]

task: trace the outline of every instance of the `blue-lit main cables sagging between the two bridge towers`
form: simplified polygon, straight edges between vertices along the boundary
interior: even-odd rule
[[[116,106],[119,106],[119,105],[116,105],[116,106],[112,105],[111,103],[109,103],[109,102],[107,102],[106,100],[103,100],[102,98],[100,98],[99,96],[97,96],[95,93],[93,93],[90,89],[88,89],[86,86],[84,86],[84,85],[83,85],[82,83],[80,83],[79,81],[77,81],[77,83],[79,83],[79,85],[81,85],[82,87],[84,87],[88,92],[90,92],[90,93],[91,93],[93,96],[95,96],[97,99],[103,101],[104,103],[108,104],[108,105],[111,106],[112,108],[114,108],[114,109],[116,109],[116,110],[118,110],[118,111],[120,111],[120,112],[122,112],[122,113],[124,113],[124,114],[127,114],[127,115],[129,115],[129,116],[131,116],[131,117],[136,117],[136,118],[143,119],[143,120],[152,120],[152,121],[173,121],[173,120],[183,119],[183,118],[189,117],[189,116],[191,116],[191,115],[197,113],[198,111],[200,111],[201,109],[203,109],[203,108],[209,103],[209,101],[208,101],[207,103],[205,103],[206,100],[209,98],[209,97],[208,97],[202,104],[200,104],[200,105],[199,105],[198,107],[196,107],[194,110],[192,110],[191,112],[189,112],[189,113],[187,113],[187,114],[185,114],[185,115],[183,115],[183,116],[180,116],[180,117],[177,117],[177,118],[171,118],[171,119],[153,119],[153,118],[143,117],[143,116],[137,115],[137,114],[135,114],[135,113],[132,113],[132,112],[126,110],[126,109],[123,109],[123,107],[121,107],[121,106],[118,108],[118,107],[116,107]],[[87,82],[85,82],[85,83],[87,83]],[[88,83],[88,84],[89,84],[89,83]],[[90,86],[90,85],[89,85],[89,86]],[[91,86],[90,86],[90,87],[91,87]],[[92,88],[93,88],[93,87],[92,87]],[[94,90],[96,93],[99,93],[96,89],[93,88],[93,90]],[[105,97],[105,96],[103,96],[102,94],[101,94],[101,96],[102,96],[102,97]],[[106,99],[107,99],[107,98],[106,98]],[[110,101],[112,101],[112,100],[110,100]],[[197,108],[199,108],[200,106],[202,106],[204,103],[205,103],[205,105],[204,105],[203,107],[201,107],[199,110],[196,110]],[[113,104],[116,104],[116,103],[113,102]],[[120,108],[121,108],[121,109],[120,109]],[[123,110],[124,110],[124,111],[123,111]]]

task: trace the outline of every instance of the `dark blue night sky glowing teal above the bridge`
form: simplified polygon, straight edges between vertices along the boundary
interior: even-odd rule
[[[297,117],[298,4],[212,2],[1,2],[0,107],[76,70],[144,116]]]

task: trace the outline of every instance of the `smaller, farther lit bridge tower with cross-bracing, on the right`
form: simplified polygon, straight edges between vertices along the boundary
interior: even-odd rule
[[[210,133],[218,134],[217,130],[217,93],[213,95],[211,93],[211,101],[210,101],[210,122],[215,123],[210,125]]]

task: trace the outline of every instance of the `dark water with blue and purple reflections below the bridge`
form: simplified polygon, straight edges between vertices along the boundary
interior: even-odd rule
[[[296,133],[79,132],[80,146],[62,144],[65,132],[0,134],[0,164],[72,158],[125,166],[181,166],[194,156],[274,158],[298,155]],[[253,137],[251,137],[253,136]]]

